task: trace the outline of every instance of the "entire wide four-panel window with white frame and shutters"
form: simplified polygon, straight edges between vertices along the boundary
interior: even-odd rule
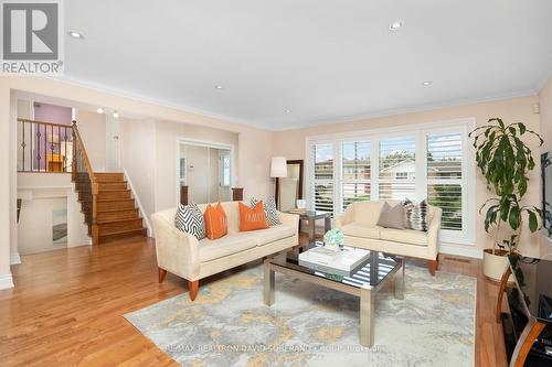
[[[421,201],[443,211],[442,238],[475,241],[473,120],[307,138],[309,207],[341,214],[370,199]],[[470,214],[468,216],[468,214]]]

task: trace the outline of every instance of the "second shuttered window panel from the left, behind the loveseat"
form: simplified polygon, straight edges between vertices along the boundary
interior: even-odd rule
[[[343,209],[349,204],[369,201],[372,195],[372,168],[370,141],[348,141],[341,152],[341,203]]]

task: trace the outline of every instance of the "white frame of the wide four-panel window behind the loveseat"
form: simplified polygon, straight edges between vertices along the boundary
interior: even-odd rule
[[[468,133],[476,127],[475,118],[445,120],[429,123],[407,125],[393,128],[372,129],[363,131],[351,131],[337,134],[314,136],[306,138],[306,187],[307,207],[312,208],[312,184],[314,184],[314,164],[312,145],[331,143],[333,145],[333,214],[339,215],[342,211],[342,143],[351,141],[370,141],[372,144],[371,161],[371,197],[372,201],[379,198],[380,181],[380,140],[385,138],[415,137],[416,143],[416,197],[421,201],[427,197],[427,185],[434,183],[444,183],[443,179],[427,177],[427,136],[439,133],[460,133],[463,137],[463,159],[461,159],[461,179],[447,179],[448,184],[459,184],[463,192],[463,229],[461,230],[440,230],[440,239],[448,244],[473,245],[476,241],[476,165],[475,152],[471,148]],[[406,180],[400,180],[406,182]],[[338,188],[339,187],[339,188]]]

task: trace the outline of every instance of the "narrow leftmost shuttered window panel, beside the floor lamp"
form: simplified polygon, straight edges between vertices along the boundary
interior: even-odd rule
[[[333,144],[312,145],[315,211],[333,213]]]

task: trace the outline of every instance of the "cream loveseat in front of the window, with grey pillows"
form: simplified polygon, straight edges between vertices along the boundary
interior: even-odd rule
[[[439,253],[442,209],[428,205],[427,233],[413,229],[393,229],[378,226],[380,211],[385,202],[358,202],[336,217],[336,226],[343,231],[347,246],[429,260],[429,272],[435,274]],[[393,206],[399,202],[388,201]]]

